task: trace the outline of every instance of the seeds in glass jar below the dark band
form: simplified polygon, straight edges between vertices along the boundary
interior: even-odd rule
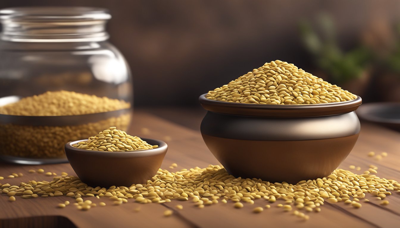
[[[130,119],[131,114],[127,113],[73,126],[0,125],[0,153],[29,158],[65,157],[65,143],[88,138],[110,126],[126,131]]]

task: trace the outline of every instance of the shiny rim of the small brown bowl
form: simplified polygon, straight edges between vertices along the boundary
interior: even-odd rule
[[[81,139],[81,140],[77,140],[77,141],[70,141],[68,143],[65,144],[65,152],[68,153],[67,151],[75,151],[75,152],[79,152],[79,153],[85,153],[86,155],[94,155],[94,156],[98,156],[98,155],[105,155],[105,156],[110,156],[110,155],[114,155],[115,157],[124,157],[124,156],[129,156],[129,157],[147,157],[147,156],[152,156],[152,155],[158,155],[158,154],[162,154],[165,153],[166,149],[168,149],[168,145],[161,140],[157,140],[157,139],[149,139],[149,138],[141,138],[143,141],[154,141],[156,142],[156,145],[158,145],[157,148],[153,148],[153,149],[141,149],[141,150],[136,150],[136,151],[93,151],[93,150],[84,150],[84,149],[79,149],[76,148],[72,145],[77,144],[79,142],[83,142],[83,141],[88,141],[88,139]],[[153,143],[154,144],[154,143]],[[67,156],[68,157],[68,156]]]

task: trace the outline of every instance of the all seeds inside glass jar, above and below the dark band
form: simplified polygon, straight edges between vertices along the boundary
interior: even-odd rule
[[[0,107],[0,114],[25,116],[59,116],[102,113],[129,108],[130,104],[107,97],[56,91],[26,97]],[[27,158],[65,157],[64,145],[68,141],[88,138],[110,126],[127,130],[131,114],[79,125],[28,126],[0,124],[1,154]],[[62,123],[60,123],[62,124]],[[51,144],[51,146],[49,146]]]

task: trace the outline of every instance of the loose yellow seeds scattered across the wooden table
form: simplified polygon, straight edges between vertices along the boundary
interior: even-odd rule
[[[376,167],[370,171],[376,171]],[[42,170],[41,170],[42,171]],[[271,183],[260,179],[235,178],[218,165],[210,165],[205,169],[195,167],[182,169],[178,172],[169,172],[159,169],[156,176],[146,184],[132,184],[132,186],[111,186],[110,188],[92,188],[82,183],[75,176],[56,176],[52,181],[30,181],[19,186],[0,184],[3,194],[7,194],[11,201],[15,196],[22,198],[35,198],[38,196],[69,196],[76,199],[78,209],[88,210],[96,206],[90,200],[82,197],[95,196],[107,197],[113,204],[128,202],[134,199],[138,203],[164,203],[176,200],[191,200],[194,205],[204,206],[227,203],[233,201],[235,208],[242,208],[246,204],[254,204],[254,200],[264,200],[265,208],[270,208],[270,203],[281,201],[277,204],[285,212],[294,210],[297,216],[308,219],[304,212],[320,212],[324,202],[336,203],[344,201],[354,208],[360,208],[360,199],[366,194],[372,194],[382,205],[388,204],[385,199],[390,195],[389,190],[400,193],[400,184],[395,180],[380,178],[370,171],[364,174],[354,174],[351,171],[337,169],[329,176],[316,180],[303,180],[297,184]],[[373,172],[375,173],[375,172]],[[366,201],[366,200],[364,200]],[[103,202],[104,204],[104,202]],[[59,205],[63,207],[64,205]],[[260,213],[263,208],[255,207],[253,212]],[[301,212],[303,211],[303,212]],[[168,216],[170,212],[166,212]]]

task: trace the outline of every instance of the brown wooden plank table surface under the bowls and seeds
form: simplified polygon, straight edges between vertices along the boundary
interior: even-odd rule
[[[182,114],[184,115],[184,114]],[[177,116],[179,118],[179,116]],[[198,120],[196,120],[198,121]],[[134,127],[130,133],[142,137],[169,140],[168,152],[162,163],[162,169],[169,169],[172,163],[177,163],[177,171],[183,168],[206,167],[217,165],[218,161],[208,151],[200,132],[166,121],[148,112],[136,112],[133,119]],[[143,130],[147,128],[147,130]],[[352,153],[340,165],[348,169],[349,165],[360,166],[362,173],[373,164],[378,166],[378,176],[387,179],[400,180],[400,133],[362,123],[360,137]],[[388,153],[388,157],[376,161],[367,156],[370,151]],[[28,180],[52,180],[44,174],[30,174],[29,169],[44,169],[46,172],[67,172],[75,175],[71,166],[58,165],[12,165],[0,163],[0,176],[8,176],[12,172],[22,172],[24,176],[5,178],[0,183],[18,185]],[[235,209],[232,202],[228,204],[213,204],[205,208],[197,208],[189,201],[175,201],[164,204],[137,204],[133,200],[120,206],[109,206],[107,198],[87,199],[93,202],[106,202],[105,207],[94,207],[88,211],[80,211],[76,206],[57,208],[56,205],[65,200],[73,201],[66,196],[39,197],[9,202],[6,194],[0,194],[0,227],[398,227],[400,224],[400,194],[392,192],[387,199],[390,204],[382,206],[379,200],[369,194],[370,202],[362,202],[362,208],[356,209],[343,202],[330,204],[325,202],[320,213],[310,212],[310,220],[304,221],[290,212],[282,212],[277,208],[278,202],[271,204],[270,209],[260,214],[252,213],[256,206],[264,206],[263,199],[255,200],[254,205],[245,204],[242,209]],[[183,210],[176,210],[175,205],[182,204]],[[140,211],[136,212],[136,208]],[[170,217],[164,217],[166,209],[174,211]]]

